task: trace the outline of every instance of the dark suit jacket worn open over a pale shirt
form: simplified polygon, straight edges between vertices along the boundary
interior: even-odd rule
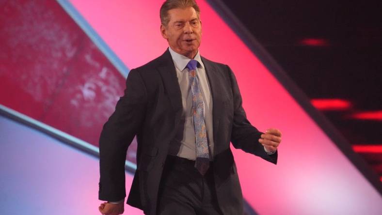
[[[230,142],[235,148],[274,164],[277,152],[268,155],[258,143],[261,132],[246,118],[231,69],[203,57],[202,61],[213,101],[213,167],[218,202],[224,215],[239,215],[243,200]],[[100,200],[118,201],[126,197],[126,151],[137,135],[137,170],[127,203],[147,215],[156,214],[163,164],[179,128],[182,109],[179,83],[168,49],[159,58],[130,71],[125,94],[100,137]]]

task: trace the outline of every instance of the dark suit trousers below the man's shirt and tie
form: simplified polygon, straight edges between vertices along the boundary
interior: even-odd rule
[[[158,215],[222,215],[217,202],[213,162],[205,175],[195,161],[167,155],[159,185]]]

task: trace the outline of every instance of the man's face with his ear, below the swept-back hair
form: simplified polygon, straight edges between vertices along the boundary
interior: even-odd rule
[[[192,59],[198,52],[202,36],[202,23],[195,9],[175,8],[169,10],[168,15],[167,26],[160,26],[163,38],[175,52]]]

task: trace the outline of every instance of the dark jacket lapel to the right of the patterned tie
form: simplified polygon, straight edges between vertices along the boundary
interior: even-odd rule
[[[221,95],[222,91],[222,76],[220,76],[219,71],[213,65],[211,61],[202,57],[203,64],[206,68],[206,74],[209,82],[209,87],[211,89],[212,96],[212,129],[213,129],[213,138],[214,138],[214,152],[217,152],[216,147],[218,144],[218,128],[219,128],[219,119],[222,115],[223,110],[223,98]],[[215,153],[214,153],[215,154]]]

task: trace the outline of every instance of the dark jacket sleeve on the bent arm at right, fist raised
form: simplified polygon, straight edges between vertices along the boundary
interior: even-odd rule
[[[245,111],[242,107],[242,98],[239,91],[238,82],[232,70],[227,66],[229,77],[231,80],[234,117],[232,123],[231,142],[236,149],[244,152],[255,154],[263,159],[276,164],[277,151],[274,154],[267,154],[263,145],[258,141],[262,132],[258,131],[247,119]]]

